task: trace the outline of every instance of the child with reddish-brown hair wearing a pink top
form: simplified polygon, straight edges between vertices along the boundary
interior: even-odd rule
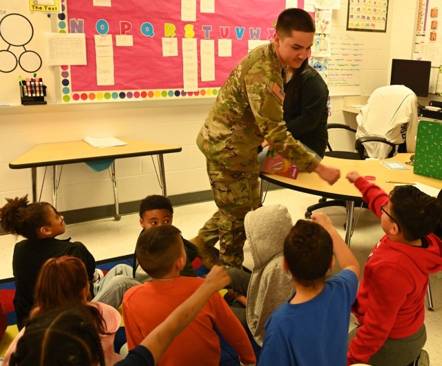
[[[60,256],[50,258],[41,267],[35,285],[35,305],[30,318],[46,314],[60,307],[82,307],[93,321],[104,350],[106,365],[114,365],[121,360],[113,352],[115,332],[122,318],[113,307],[103,303],[90,303],[88,274],[79,258]],[[12,340],[3,359],[3,366],[9,365],[10,355],[15,352],[17,341],[23,336],[26,326]]]

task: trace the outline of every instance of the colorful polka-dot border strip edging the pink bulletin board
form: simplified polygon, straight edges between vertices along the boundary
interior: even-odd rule
[[[61,0],[61,12],[58,17],[58,32],[66,33],[68,25],[66,19],[66,1]],[[84,103],[88,101],[131,101],[131,100],[160,100],[160,99],[195,99],[211,98],[218,95],[220,88],[201,88],[196,92],[184,92],[179,88],[155,90],[108,90],[73,92],[70,80],[70,66],[60,66],[61,100],[64,103]]]

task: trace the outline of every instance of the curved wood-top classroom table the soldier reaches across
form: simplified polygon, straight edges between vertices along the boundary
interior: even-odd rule
[[[390,192],[394,188],[394,183],[388,183],[387,181],[403,182],[403,183],[423,183],[430,185],[437,190],[442,190],[442,181],[439,179],[428,178],[427,176],[421,176],[414,174],[413,167],[406,165],[405,162],[410,161],[410,153],[397,154],[390,159],[382,160],[349,160],[349,159],[337,159],[330,156],[325,156],[322,163],[324,165],[330,165],[337,167],[340,170],[340,179],[329,185],[323,179],[320,179],[316,173],[300,172],[297,179],[289,179],[284,176],[278,176],[275,174],[268,174],[261,172],[260,177],[263,181],[280,185],[281,187],[289,188],[290,190],[296,190],[309,194],[316,194],[318,196],[326,197],[327,199],[341,199],[347,201],[347,221],[346,221],[346,234],[345,243],[350,245],[353,229],[353,209],[355,201],[361,201],[362,194],[354,186],[349,183],[345,176],[348,172],[356,170],[361,176],[374,176],[376,183],[385,192]],[[408,170],[390,170],[382,162],[397,161],[402,163]]]

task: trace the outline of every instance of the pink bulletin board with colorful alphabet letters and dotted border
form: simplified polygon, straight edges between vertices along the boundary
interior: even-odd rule
[[[285,0],[271,6],[266,0],[61,0],[58,32],[86,34],[86,65],[57,67],[61,99],[213,96],[249,50],[273,39],[272,22],[285,6]]]

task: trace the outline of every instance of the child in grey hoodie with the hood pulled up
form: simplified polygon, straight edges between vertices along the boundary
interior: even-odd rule
[[[270,314],[294,292],[291,278],[282,267],[284,241],[293,223],[282,205],[266,205],[248,212],[244,218],[246,241],[253,259],[253,272],[229,268],[234,298],[247,294],[247,305],[233,303],[231,309],[253,338],[262,346],[264,325]],[[224,296],[225,297],[225,296]]]

